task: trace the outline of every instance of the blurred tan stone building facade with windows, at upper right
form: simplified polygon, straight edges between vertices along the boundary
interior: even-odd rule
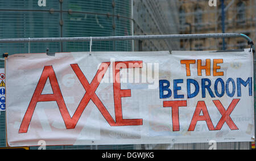
[[[256,2],[254,0],[225,0],[224,14],[221,1],[216,6],[209,6],[209,1],[179,0],[179,29],[185,33],[244,33],[256,40]],[[222,25],[224,19],[224,26]],[[180,48],[184,50],[218,50],[223,49],[222,39],[181,40]],[[249,47],[242,38],[225,39],[225,49],[242,49]]]

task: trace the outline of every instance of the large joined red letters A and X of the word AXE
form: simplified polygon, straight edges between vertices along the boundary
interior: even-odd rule
[[[108,62],[107,64],[109,66],[110,62]],[[71,117],[68,113],[68,109],[65,105],[63,96],[60,91],[59,83],[57,82],[57,78],[52,66],[45,66],[43,73],[39,79],[38,85],[36,86],[35,92],[30,101],[30,104],[28,105],[27,111],[23,117],[22,124],[20,125],[20,128],[19,128],[19,133],[27,133],[28,126],[30,125],[30,121],[35,111],[36,104],[40,101],[56,101],[57,102],[57,105],[60,109],[61,116],[63,117],[64,123],[67,129],[75,128],[77,122],[79,121],[80,116],[82,115],[82,112],[84,111],[86,105],[89,103],[90,99],[92,99],[94,104],[96,104],[96,106],[98,107],[102,115],[105,117],[105,119],[109,122],[109,124],[110,125],[115,124],[113,118],[110,116],[109,112],[101,103],[100,99],[98,99],[98,96],[95,94],[95,91],[98,85],[100,84],[104,74],[102,75],[102,77],[99,77],[100,80],[98,80],[99,78],[97,77],[97,75],[102,72],[106,73],[106,70],[108,68],[101,66],[100,69],[97,71],[96,77],[94,77],[92,83],[89,84],[77,64],[71,65],[71,67],[75,71],[77,77],[82,83],[82,86],[86,90],[86,93],[82,98],[79,104],[79,107],[77,107],[73,117]],[[46,84],[47,78],[49,78],[49,82],[51,84],[53,94],[42,95],[42,91]]]

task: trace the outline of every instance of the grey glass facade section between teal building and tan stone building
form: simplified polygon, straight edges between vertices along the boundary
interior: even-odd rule
[[[133,0],[134,35],[169,35],[179,33],[177,1]],[[139,51],[177,50],[179,41],[135,41]]]

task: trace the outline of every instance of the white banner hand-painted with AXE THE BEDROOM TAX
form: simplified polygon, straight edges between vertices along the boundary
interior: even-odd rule
[[[15,54],[9,146],[250,142],[249,49]]]

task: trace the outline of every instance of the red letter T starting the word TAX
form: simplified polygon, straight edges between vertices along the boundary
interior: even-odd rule
[[[179,132],[179,107],[187,107],[186,100],[163,101],[163,107],[172,107],[172,131]]]

